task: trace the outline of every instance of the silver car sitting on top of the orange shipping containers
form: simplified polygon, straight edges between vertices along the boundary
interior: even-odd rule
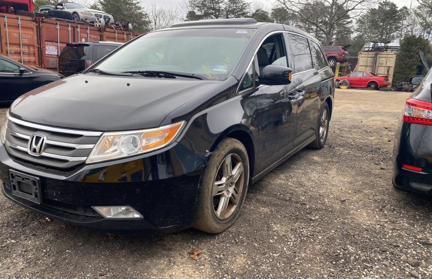
[[[63,10],[72,13],[73,20],[85,21],[95,26],[101,26],[114,22],[112,15],[99,10],[92,10],[84,5],[69,2],[60,2],[55,7],[56,10]]]

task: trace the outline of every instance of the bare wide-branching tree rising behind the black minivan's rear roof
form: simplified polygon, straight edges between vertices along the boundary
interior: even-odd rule
[[[315,33],[323,34],[330,43],[340,32],[340,25],[358,17],[370,8],[373,0],[276,0],[288,12],[295,14],[305,25],[313,27]],[[305,12],[314,11],[314,12]]]

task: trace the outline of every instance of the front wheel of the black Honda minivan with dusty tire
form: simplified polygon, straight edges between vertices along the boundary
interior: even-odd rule
[[[229,176],[229,170],[224,168],[228,157],[232,176]],[[237,172],[235,172],[236,169]],[[237,173],[236,179],[235,174]],[[219,186],[216,186],[216,182],[219,182]],[[193,227],[208,233],[221,233],[228,229],[239,217],[248,184],[249,157],[246,148],[234,138],[224,138],[216,147],[204,169],[197,206],[197,219]],[[237,194],[237,199],[234,198],[234,194]],[[234,203],[235,200],[237,202]],[[227,202],[224,203],[224,201]]]

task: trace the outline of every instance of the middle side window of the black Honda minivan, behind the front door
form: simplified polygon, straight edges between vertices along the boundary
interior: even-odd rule
[[[294,59],[295,73],[312,69],[312,56],[310,55],[307,39],[294,34],[289,34],[291,51]]]

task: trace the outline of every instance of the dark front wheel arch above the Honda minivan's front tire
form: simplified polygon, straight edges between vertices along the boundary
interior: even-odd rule
[[[249,157],[249,177],[252,178],[255,167],[255,143],[251,130],[242,124],[230,126],[218,136],[210,151],[213,152],[217,145],[226,137],[235,138],[245,146]]]

